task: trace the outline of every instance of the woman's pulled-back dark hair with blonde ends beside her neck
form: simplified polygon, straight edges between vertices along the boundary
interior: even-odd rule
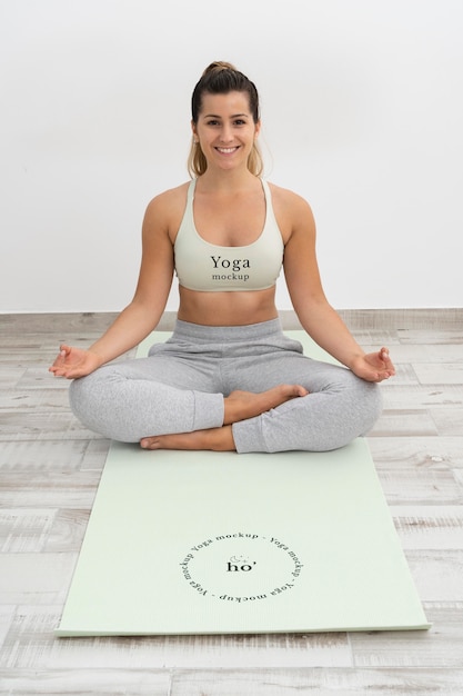
[[[198,123],[198,118],[202,108],[202,97],[208,95],[228,95],[229,92],[246,92],[249,108],[254,123],[259,122],[259,95],[255,84],[245,74],[240,72],[231,63],[215,61],[211,63],[202,73],[191,97],[191,119]],[[192,142],[188,158],[188,170],[191,177],[200,177],[208,169],[208,161],[199,145]],[[263,171],[262,156],[258,143],[254,141],[253,148],[248,159],[248,169],[251,173],[260,177]]]

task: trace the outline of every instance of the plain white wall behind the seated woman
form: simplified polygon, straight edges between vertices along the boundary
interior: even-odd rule
[[[461,0],[0,0],[0,311],[130,301],[214,59],[258,84],[335,307],[463,306],[462,36]]]

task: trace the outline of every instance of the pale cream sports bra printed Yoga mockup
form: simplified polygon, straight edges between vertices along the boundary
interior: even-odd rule
[[[244,247],[221,247],[205,241],[194,226],[197,180],[188,189],[187,207],[174,243],[179,284],[190,290],[265,290],[275,285],[283,264],[284,243],[278,226],[270,188],[265,196],[265,223],[259,238]]]

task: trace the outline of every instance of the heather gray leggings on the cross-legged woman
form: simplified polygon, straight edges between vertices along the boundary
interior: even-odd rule
[[[239,453],[323,451],[364,435],[381,412],[378,385],[302,355],[280,320],[240,327],[178,321],[148,358],[113,362],[71,384],[74,415],[90,429],[124,443],[218,428],[223,397],[299,384],[309,396],[233,424]]]

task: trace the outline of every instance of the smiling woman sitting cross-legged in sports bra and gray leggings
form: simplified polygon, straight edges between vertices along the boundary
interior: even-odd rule
[[[192,181],[148,206],[133,300],[89,350],[61,346],[50,370],[73,379],[71,407],[87,427],[147,449],[342,447],[380,415],[389,351],[365,355],[329,305],[309,205],[261,179],[254,84],[230,63],[209,66],[191,128]],[[345,367],[303,356],[283,335],[282,267],[301,325]],[[155,328],[174,271],[172,338],[148,358],[105,365]]]

